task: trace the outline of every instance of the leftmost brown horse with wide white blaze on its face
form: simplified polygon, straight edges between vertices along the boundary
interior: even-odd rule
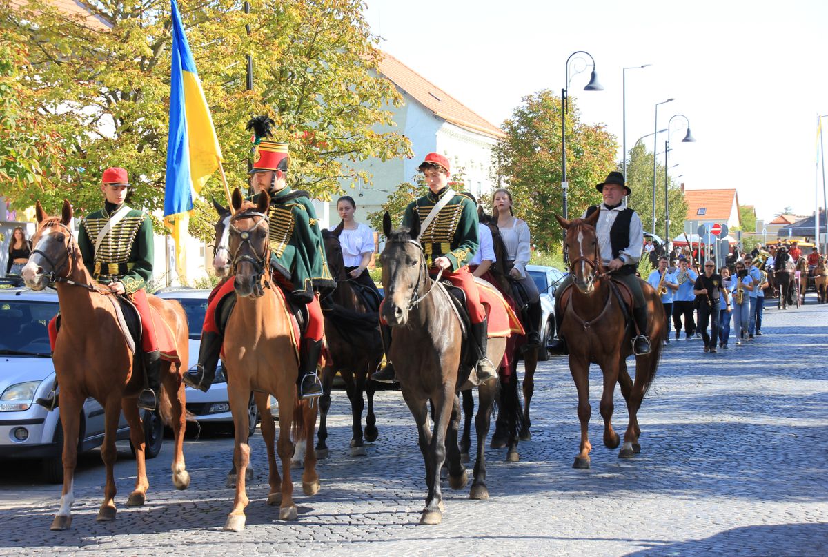
[[[61,327],[55,341],[55,374],[60,385],[60,422],[63,428],[63,493],[60,510],[51,530],[65,530],[72,523],[71,507],[75,501],[75,464],[78,456],[80,416],[84,400],[90,396],[103,406],[106,417],[101,459],[106,465],[106,487],[98,521],[115,519],[114,465],[118,450],[115,433],[121,410],[129,423],[130,440],[135,448],[137,478],[128,506],[143,505],[147,498],[147,468],[144,459],[144,432],[137,407],[137,395],[143,387],[142,366],[130,351],[113,308],[114,295],[99,287],[84,267],[75,236],[69,227],[72,206],[64,201],[60,218],[47,216],[41,204],[36,206],[36,249],[23,269],[26,285],[33,290],[46,288],[56,281],[60,303]],[[187,318],[181,304],[148,296],[149,303],[174,332],[176,350],[187,361]],[[117,303],[117,302],[115,302]],[[128,333],[127,333],[128,334]],[[140,358],[140,355],[138,356]],[[182,445],[185,430],[183,368],[164,361],[161,366],[161,419],[175,432],[172,458],[172,482],[178,489],[190,485],[185,470]]]

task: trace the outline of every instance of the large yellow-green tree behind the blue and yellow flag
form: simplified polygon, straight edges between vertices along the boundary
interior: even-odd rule
[[[9,5],[4,39],[22,36],[31,55],[19,82],[22,111],[42,114],[42,130],[64,153],[64,167],[43,170],[46,186],[3,184],[14,206],[40,200],[56,210],[69,198],[79,213],[100,204],[97,184],[108,166],[128,168],[135,206],[163,204],[170,94],[169,0],[79,0],[107,28],[70,17],[51,2]],[[253,0],[244,14],[231,0],[181,0],[181,16],[225,157],[231,189],[247,185],[255,114],[277,122],[291,144],[291,186],[330,196],[340,181],[363,180],[354,162],[407,155],[407,138],[378,133],[402,102],[376,72],[381,53],[361,0]],[[245,25],[250,33],[245,32]],[[253,56],[253,90],[245,90],[245,53]],[[224,199],[217,179],[202,195]],[[197,206],[190,232],[206,237],[212,211]]]

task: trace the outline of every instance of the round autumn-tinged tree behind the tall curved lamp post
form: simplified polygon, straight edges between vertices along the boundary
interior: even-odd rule
[[[537,248],[560,253],[563,230],[554,215],[562,215],[561,99],[543,90],[522,99],[503,126],[506,138],[494,148],[496,172],[508,182],[515,214],[526,220]],[[566,178],[570,218],[601,201],[595,184],[615,167],[618,150],[603,124],[580,122],[575,99],[566,115]]]

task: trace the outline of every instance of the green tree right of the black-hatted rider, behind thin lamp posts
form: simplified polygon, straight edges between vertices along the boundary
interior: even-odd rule
[[[620,170],[620,169],[619,169]],[[633,191],[627,206],[638,212],[644,230],[664,235],[664,166],[656,166],[656,230],[652,228],[652,153],[638,142],[630,150],[627,163],[627,185]],[[684,192],[672,178],[668,177],[667,199],[670,202],[670,238],[672,240],[684,231],[687,203]]]

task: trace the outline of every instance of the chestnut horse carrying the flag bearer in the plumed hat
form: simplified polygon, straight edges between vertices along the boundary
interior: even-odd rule
[[[233,465],[236,470],[246,470],[250,460],[248,401],[251,392],[263,391],[273,395],[279,404],[277,451],[282,459],[282,477],[279,477],[273,451],[275,425],[272,425],[272,419],[262,414],[262,438],[267,446],[270,468],[267,504],[280,506],[280,520],[293,521],[298,512],[293,501],[291,481],[291,456],[294,452],[291,427],[294,439],[298,442],[304,440],[306,444],[302,491],[306,495],[314,495],[320,489],[312,434],[316,406],[307,400],[298,400],[296,379],[299,361],[291,317],[282,294],[276,292],[277,286],[272,283],[267,217],[270,197],[258,196],[258,202],[254,205],[244,201],[241,191],[236,188],[231,201],[233,216],[227,222],[228,253],[237,299],[225,327],[224,366],[235,431]],[[244,528],[244,509],[248,505],[246,479],[246,474],[238,474],[236,478],[233,511],[224,524],[224,530],[240,531]]]

